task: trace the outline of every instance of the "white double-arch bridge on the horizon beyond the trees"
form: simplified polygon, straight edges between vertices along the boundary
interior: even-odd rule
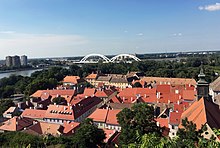
[[[98,63],[100,59],[103,63],[117,63],[121,61],[131,63],[132,61],[141,61],[138,57],[132,54],[119,54],[111,59],[102,54],[88,54],[77,63]]]

